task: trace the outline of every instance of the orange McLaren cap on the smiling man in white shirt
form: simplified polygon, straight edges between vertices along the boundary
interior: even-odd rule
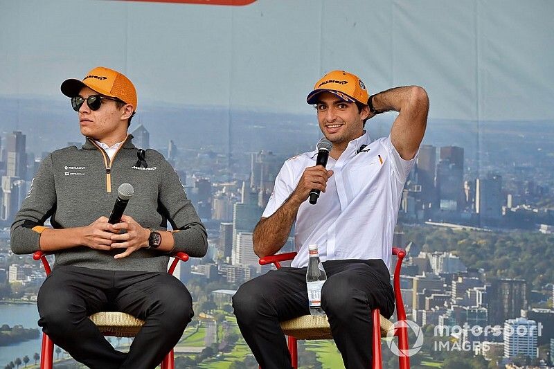
[[[345,71],[332,71],[317,81],[314,91],[310,92],[306,101],[310,105],[317,103],[317,96],[322,92],[330,92],[339,96],[346,102],[361,102],[368,104],[368,90],[364,82],[361,82],[356,75]]]

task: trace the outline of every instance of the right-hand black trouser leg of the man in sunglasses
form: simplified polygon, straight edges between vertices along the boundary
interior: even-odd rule
[[[120,368],[152,369],[179,342],[193,318],[186,287],[168,273],[116,272],[116,307],[145,321]]]

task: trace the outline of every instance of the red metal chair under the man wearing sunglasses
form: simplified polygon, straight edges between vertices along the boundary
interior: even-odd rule
[[[175,267],[179,260],[186,262],[188,255],[183,252],[175,253],[172,255],[175,258],[171,263],[168,273],[173,274]],[[41,260],[44,265],[44,271],[46,275],[50,274],[52,269],[48,260],[46,260],[46,254],[42,251],[33,253],[33,259]],[[89,316],[89,319],[96,324],[98,330],[104,334],[104,336],[115,337],[134,337],[141,330],[144,321],[126,313],[121,312],[99,312]],[[52,369],[54,357],[54,343],[48,337],[47,334],[42,334],[42,348],[40,354],[40,369]],[[173,357],[173,350],[168,352],[166,357],[161,362],[161,369],[175,369],[175,359]]]

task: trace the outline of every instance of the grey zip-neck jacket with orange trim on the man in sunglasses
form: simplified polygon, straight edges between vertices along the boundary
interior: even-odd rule
[[[206,254],[206,228],[187,199],[183,185],[170,163],[155,150],[146,150],[144,161],[129,134],[110,161],[106,152],[91,138],[82,145],[52,152],[42,161],[35,179],[11,228],[11,247],[17,254],[39,250],[44,222],[53,228],[88,226],[102,215],[109,217],[121,183],[130,183],[134,195],[125,215],[144,228],[166,231],[169,221],[175,247],[193,257]],[[145,164],[145,165],[144,165]],[[146,166],[146,168],[145,168]],[[152,249],[139,249],[127,258],[114,259],[113,251],[77,246],[55,252],[55,266],[73,265],[93,269],[165,272],[169,255]]]

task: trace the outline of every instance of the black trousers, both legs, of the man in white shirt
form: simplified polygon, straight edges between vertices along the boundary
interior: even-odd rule
[[[321,307],[347,369],[371,368],[372,317],[394,312],[394,291],[382,260],[323,262]],[[240,332],[263,369],[292,368],[279,322],[310,314],[306,268],[281,268],[242,285],[233,296]]]

